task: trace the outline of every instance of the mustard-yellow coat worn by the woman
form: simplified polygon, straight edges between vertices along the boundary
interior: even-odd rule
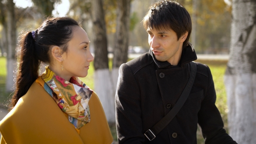
[[[91,121],[75,129],[39,77],[0,121],[0,144],[111,144],[113,137],[95,92],[89,101]]]

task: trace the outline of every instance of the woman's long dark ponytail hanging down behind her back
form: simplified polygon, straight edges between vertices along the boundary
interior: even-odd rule
[[[10,109],[17,101],[26,94],[30,86],[38,77],[40,61],[37,59],[35,52],[35,40],[32,33],[26,33],[21,37],[20,47],[17,49],[18,68],[16,71],[16,89],[11,98]]]

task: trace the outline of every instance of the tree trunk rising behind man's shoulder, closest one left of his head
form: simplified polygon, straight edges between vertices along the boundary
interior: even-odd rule
[[[127,62],[128,59],[130,5],[131,0],[117,0],[117,23],[112,69],[112,79],[115,85],[115,90],[119,67],[121,64]]]

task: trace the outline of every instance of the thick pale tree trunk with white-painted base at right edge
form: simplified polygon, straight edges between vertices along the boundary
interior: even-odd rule
[[[233,0],[230,60],[224,82],[229,134],[238,144],[256,141],[256,1]]]

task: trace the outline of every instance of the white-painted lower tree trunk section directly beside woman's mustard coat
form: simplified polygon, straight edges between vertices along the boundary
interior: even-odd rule
[[[94,73],[94,91],[97,93],[108,122],[115,122],[115,90],[112,74],[108,69],[98,69]]]

